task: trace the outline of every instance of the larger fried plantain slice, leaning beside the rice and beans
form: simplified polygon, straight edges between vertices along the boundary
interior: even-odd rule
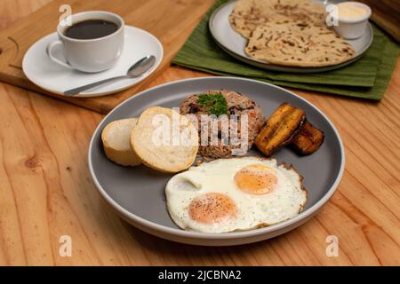
[[[277,149],[289,144],[304,122],[306,113],[303,110],[283,103],[276,108],[260,130],[255,144],[263,154],[270,156]]]

